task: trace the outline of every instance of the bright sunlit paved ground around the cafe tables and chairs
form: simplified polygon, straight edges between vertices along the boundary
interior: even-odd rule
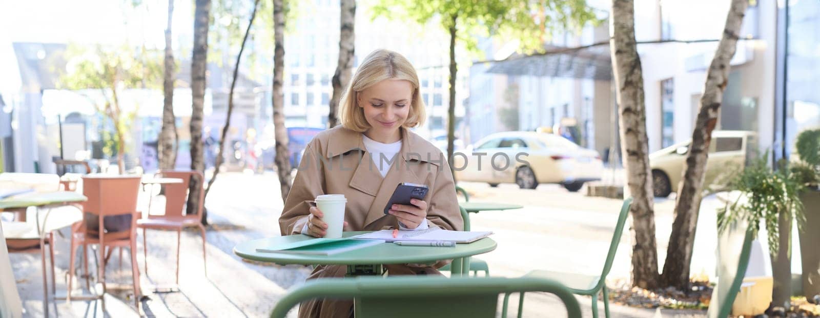
[[[198,232],[182,235],[180,292],[151,293],[142,300],[144,316],[266,316],[289,288],[301,284],[309,274],[303,266],[265,266],[236,257],[231,249],[236,243],[279,234],[277,218],[282,202],[276,175],[221,174],[207,200],[213,224],[207,232],[207,276],[203,273],[202,239]],[[471,216],[475,230],[494,231],[499,243],[494,252],[482,255],[494,276],[517,277],[529,270],[560,270],[583,274],[599,273],[621,202],[606,198],[587,198],[567,193],[554,185],[535,190],[521,190],[502,184],[492,189],[486,184],[460,184],[471,193],[471,201],[516,202],[525,206],[517,211],[485,211]],[[154,204],[161,202],[154,201]],[[659,258],[663,260],[666,241],[672,225],[672,200],[656,201]],[[699,219],[696,247],[713,247],[714,202],[707,199]],[[154,206],[156,208],[157,205]],[[157,209],[159,211],[159,209]],[[72,212],[62,216],[70,218]],[[57,214],[55,214],[56,216]],[[55,219],[56,220],[56,219]],[[51,221],[49,221],[51,222]],[[67,230],[62,233],[66,234]],[[629,275],[629,233],[625,232],[610,279]],[[68,240],[58,239],[57,290],[65,290],[68,268]],[[148,232],[148,284],[172,283],[175,274],[176,235],[172,232]],[[115,256],[109,262],[107,278],[114,287],[121,285],[106,299],[106,311],[98,302],[75,301],[52,303],[51,316],[137,316],[128,287],[131,282],[130,260],[126,251],[120,270]],[[695,248],[693,273],[711,275],[714,268],[713,248]],[[138,261],[144,273],[141,234]],[[43,316],[42,280],[39,254],[12,254],[15,279],[26,316]],[[92,261],[93,267],[93,261]],[[75,284],[76,285],[76,284]],[[109,286],[111,287],[111,286]],[[590,298],[579,297],[585,316],[591,316]],[[517,298],[511,308],[517,309]],[[603,314],[603,307],[602,314]],[[563,305],[549,295],[528,294],[525,316],[563,316]],[[658,311],[613,306],[613,316],[703,316],[703,311]],[[292,312],[293,314],[293,312]]]

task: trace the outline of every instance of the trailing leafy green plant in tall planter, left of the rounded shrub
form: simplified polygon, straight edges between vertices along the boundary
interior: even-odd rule
[[[730,188],[740,195],[717,211],[717,226],[723,232],[736,220],[745,220],[756,237],[761,221],[766,225],[774,279],[772,303],[776,307],[787,307],[791,295],[790,229],[793,220],[803,225],[800,193],[804,186],[786,161],[772,170],[767,157],[768,152],[750,162],[731,180]]]

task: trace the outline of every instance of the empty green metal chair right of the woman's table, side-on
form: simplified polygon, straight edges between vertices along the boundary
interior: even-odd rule
[[[626,223],[626,217],[629,216],[629,207],[632,204],[632,198],[627,198],[623,201],[621,206],[621,214],[617,218],[617,225],[615,225],[615,233],[613,233],[612,242],[609,243],[609,252],[607,253],[606,261],[604,262],[604,270],[601,270],[601,275],[581,275],[575,273],[562,273],[548,270],[533,270],[524,275],[526,279],[555,279],[559,283],[566,285],[572,293],[579,295],[592,296],[592,316],[598,317],[598,295],[604,293],[604,313],[609,317],[609,296],[607,291],[606,279],[609,270],[612,269],[615,253],[617,252],[618,243],[621,242],[621,234],[623,226]],[[509,294],[504,296],[504,307],[507,306]],[[522,308],[524,307],[524,294],[518,298],[518,317],[522,316]]]

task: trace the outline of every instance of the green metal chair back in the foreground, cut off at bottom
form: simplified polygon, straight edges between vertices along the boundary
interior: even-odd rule
[[[276,302],[272,318],[282,318],[299,302],[315,298],[353,299],[357,318],[368,317],[495,317],[500,293],[553,293],[567,307],[567,316],[581,317],[569,289],[551,279],[358,277],[316,279]],[[506,316],[506,312],[502,312]]]

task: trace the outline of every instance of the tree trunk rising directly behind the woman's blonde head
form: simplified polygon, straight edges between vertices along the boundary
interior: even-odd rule
[[[356,0],[339,0],[341,29],[339,30],[339,63],[333,75],[333,95],[330,97],[330,111],[327,114],[327,126],[333,128],[338,124],[339,100],[350,81],[353,70],[353,52],[356,48]]]

